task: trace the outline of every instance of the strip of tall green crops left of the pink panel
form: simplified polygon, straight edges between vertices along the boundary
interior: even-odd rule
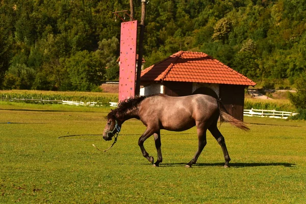
[[[118,94],[91,93],[91,92],[57,92],[57,91],[0,91],[0,99],[36,99],[25,100],[27,103],[37,103],[37,100],[73,100],[83,102],[97,102],[109,106],[109,102],[118,101]],[[43,101],[43,103],[48,103]],[[52,103],[50,101],[49,103]]]

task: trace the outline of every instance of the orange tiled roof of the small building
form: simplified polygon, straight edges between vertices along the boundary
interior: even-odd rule
[[[141,71],[141,81],[175,81],[255,86],[238,71],[205,53],[177,52]]]

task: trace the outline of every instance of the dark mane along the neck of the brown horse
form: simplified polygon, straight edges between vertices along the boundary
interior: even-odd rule
[[[124,115],[127,113],[127,111],[133,110],[138,108],[138,106],[140,105],[140,103],[148,97],[151,96],[166,96],[164,94],[152,94],[152,95],[148,95],[148,96],[134,96],[134,97],[130,97],[127,99],[122,100],[119,104],[118,104],[118,108],[116,108],[115,110],[112,110],[108,115],[107,115],[107,119],[117,119],[117,118],[122,118],[124,117]]]

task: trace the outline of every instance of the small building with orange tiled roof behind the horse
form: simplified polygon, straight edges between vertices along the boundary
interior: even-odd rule
[[[180,51],[142,70],[140,95],[208,94],[220,99],[233,117],[243,120],[245,87],[255,85],[205,53]]]

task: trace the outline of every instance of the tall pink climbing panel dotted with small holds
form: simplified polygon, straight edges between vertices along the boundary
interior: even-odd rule
[[[122,22],[120,35],[119,101],[135,96],[137,20]]]

